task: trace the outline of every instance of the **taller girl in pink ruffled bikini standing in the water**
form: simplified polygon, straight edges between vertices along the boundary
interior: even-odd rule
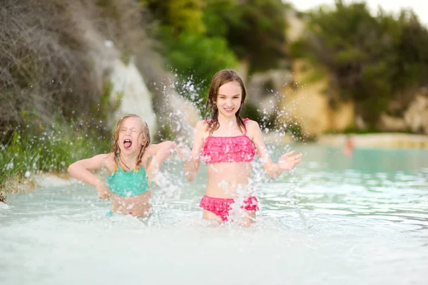
[[[277,163],[272,162],[258,123],[239,115],[245,97],[243,80],[236,71],[223,70],[213,76],[207,100],[211,118],[196,124],[193,159],[186,162],[185,175],[194,180],[200,160],[206,162],[208,180],[200,201],[203,218],[225,222],[230,210],[238,208],[243,212],[240,223],[248,226],[255,220],[258,209],[250,185],[250,162],[254,155],[258,155],[267,176],[272,178],[283,170],[292,170],[302,155],[287,152]]]

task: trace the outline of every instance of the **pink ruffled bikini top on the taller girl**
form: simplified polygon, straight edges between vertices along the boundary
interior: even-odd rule
[[[249,119],[244,119],[246,123]],[[255,155],[253,142],[246,135],[235,137],[208,137],[203,144],[202,159],[206,163],[252,161]]]

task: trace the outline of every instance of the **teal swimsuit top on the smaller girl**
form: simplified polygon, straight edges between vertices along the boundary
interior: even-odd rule
[[[140,167],[139,171],[130,170],[125,172],[121,167],[107,177],[108,189],[113,194],[123,197],[141,195],[150,190],[146,177],[146,170]]]

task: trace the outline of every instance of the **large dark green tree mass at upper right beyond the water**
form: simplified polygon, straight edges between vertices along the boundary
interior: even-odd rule
[[[365,3],[336,1],[334,9],[307,16],[310,33],[290,45],[291,53],[326,68],[340,99],[355,100],[369,128],[397,93],[409,101],[409,91],[427,84],[428,31],[412,12],[372,16]]]

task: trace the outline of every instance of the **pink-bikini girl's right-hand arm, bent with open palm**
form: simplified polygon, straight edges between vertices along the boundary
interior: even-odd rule
[[[254,134],[253,144],[255,145],[257,155],[267,176],[275,178],[280,175],[283,170],[292,170],[297,163],[302,161],[302,155],[294,155],[295,151],[292,150],[282,155],[278,162],[274,163],[267,152],[265,142],[263,142],[262,131],[258,123],[255,121],[251,121],[250,123],[250,128],[252,128],[252,133]]]

